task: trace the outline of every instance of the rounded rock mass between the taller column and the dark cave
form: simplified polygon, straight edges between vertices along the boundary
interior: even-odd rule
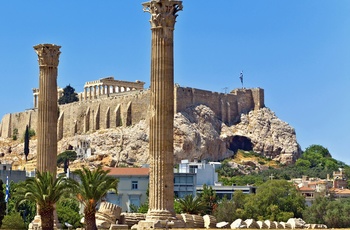
[[[220,160],[233,156],[220,138],[222,122],[207,106],[199,105],[177,113],[174,119],[174,153],[181,159]]]

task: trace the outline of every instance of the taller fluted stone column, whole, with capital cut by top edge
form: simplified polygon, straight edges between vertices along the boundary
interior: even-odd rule
[[[182,1],[143,3],[151,14],[151,103],[149,157],[151,163],[149,210],[146,220],[166,220],[174,212],[174,38]]]

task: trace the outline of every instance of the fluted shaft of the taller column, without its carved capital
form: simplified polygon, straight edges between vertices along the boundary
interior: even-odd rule
[[[163,30],[152,30],[151,117],[149,133],[150,211],[174,209],[173,41],[162,38]],[[151,192],[152,191],[152,192]]]

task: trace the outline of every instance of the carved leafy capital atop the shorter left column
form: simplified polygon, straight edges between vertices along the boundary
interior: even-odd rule
[[[39,44],[34,46],[38,55],[39,66],[57,67],[61,46],[54,44]]]

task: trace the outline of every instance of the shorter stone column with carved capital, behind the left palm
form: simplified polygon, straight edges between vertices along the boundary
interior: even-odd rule
[[[57,66],[60,46],[34,46],[39,62],[37,170],[56,175],[57,164]]]

